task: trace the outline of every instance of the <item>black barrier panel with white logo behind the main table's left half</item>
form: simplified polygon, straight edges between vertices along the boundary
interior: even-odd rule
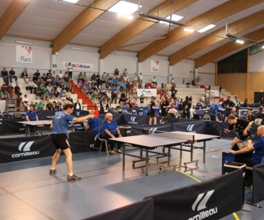
[[[142,135],[148,130],[148,134],[154,134],[156,131],[172,131],[171,124],[155,124],[145,126],[132,126],[131,135]]]

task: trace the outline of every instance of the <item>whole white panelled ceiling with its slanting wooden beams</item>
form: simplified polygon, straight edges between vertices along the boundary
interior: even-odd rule
[[[52,42],[52,52],[65,45],[98,47],[100,58],[115,50],[137,52],[139,63],[154,54],[169,56],[170,65],[185,58],[195,60],[196,67],[242,50],[225,39],[225,22],[236,36],[263,41],[264,0],[141,0],[141,12],[167,17],[175,13],[199,30],[213,23],[205,33],[185,32],[177,25],[145,21],[135,12],[134,19],[121,19],[107,10],[119,0],[80,0],[79,5],[56,0],[1,0],[0,39],[20,36]],[[125,0],[138,4],[138,0]],[[85,6],[92,6],[88,8]],[[97,10],[94,8],[100,8]],[[125,46],[125,47],[124,47]]]

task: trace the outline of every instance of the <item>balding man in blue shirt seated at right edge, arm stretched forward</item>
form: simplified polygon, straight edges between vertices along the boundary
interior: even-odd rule
[[[256,143],[252,144],[250,140],[250,142],[247,142],[247,147],[243,148],[242,150],[230,150],[230,153],[234,154],[248,153],[250,151],[254,151],[252,158],[245,158],[245,164],[250,167],[261,164],[261,161],[264,157],[264,125],[258,126],[256,133],[258,137],[260,137]],[[251,186],[252,172],[246,171],[245,181],[246,186]]]

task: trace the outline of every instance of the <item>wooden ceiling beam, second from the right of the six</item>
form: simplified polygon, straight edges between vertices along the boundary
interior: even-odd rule
[[[264,10],[256,12],[255,14],[251,14],[248,17],[230,23],[228,25],[228,32],[232,35],[239,34],[244,32],[245,30],[249,30],[250,28],[254,28],[257,25],[262,24],[264,21]],[[219,41],[223,41],[225,38],[225,27],[220,28],[212,32],[210,35],[204,36],[203,38],[194,41],[190,45],[183,47],[181,50],[175,52],[174,54],[170,55],[170,65],[174,65],[184,58],[199,52],[206,47],[210,47],[214,43],[218,43]]]

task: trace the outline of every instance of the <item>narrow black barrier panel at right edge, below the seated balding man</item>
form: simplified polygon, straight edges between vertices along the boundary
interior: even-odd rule
[[[253,167],[252,201],[257,203],[264,199],[264,164]]]

